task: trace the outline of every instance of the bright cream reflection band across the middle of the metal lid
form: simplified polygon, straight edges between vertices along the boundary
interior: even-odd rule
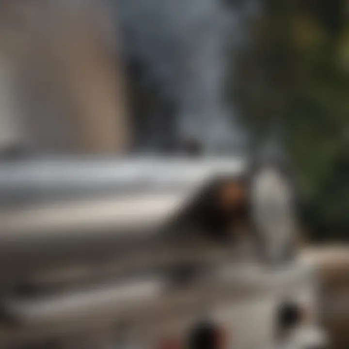
[[[159,224],[185,203],[188,192],[115,195],[105,199],[75,200],[0,211],[1,238],[45,237],[115,229],[115,234],[155,232]]]

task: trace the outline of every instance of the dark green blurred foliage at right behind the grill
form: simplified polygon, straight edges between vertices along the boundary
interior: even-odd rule
[[[253,138],[282,125],[316,238],[349,233],[349,2],[265,0],[228,89]],[[347,233],[348,232],[348,233]],[[349,234],[348,236],[349,237]]]

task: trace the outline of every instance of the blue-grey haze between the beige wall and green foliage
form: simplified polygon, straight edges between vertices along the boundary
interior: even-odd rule
[[[146,66],[143,83],[160,85],[163,98],[175,101],[176,136],[198,141],[206,152],[241,143],[236,111],[228,110],[222,93],[227,51],[245,41],[244,21],[254,9],[251,0],[239,2],[117,2],[127,57]]]

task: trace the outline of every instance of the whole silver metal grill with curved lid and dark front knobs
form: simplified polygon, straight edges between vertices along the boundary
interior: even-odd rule
[[[322,348],[277,159],[0,167],[0,348]]]

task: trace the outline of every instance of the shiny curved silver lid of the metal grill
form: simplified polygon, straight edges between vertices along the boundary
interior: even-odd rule
[[[186,251],[192,254],[194,245],[198,251],[203,244],[197,239],[176,243],[182,228],[172,235],[174,239],[164,231],[171,230],[174,217],[211,179],[234,177],[243,166],[242,160],[229,158],[4,163],[0,166],[2,285],[51,268],[95,270],[100,259],[122,262],[120,266],[133,261],[129,270],[147,269],[156,261],[162,264],[164,256],[186,260]],[[209,260],[215,249],[203,248],[205,258]]]

